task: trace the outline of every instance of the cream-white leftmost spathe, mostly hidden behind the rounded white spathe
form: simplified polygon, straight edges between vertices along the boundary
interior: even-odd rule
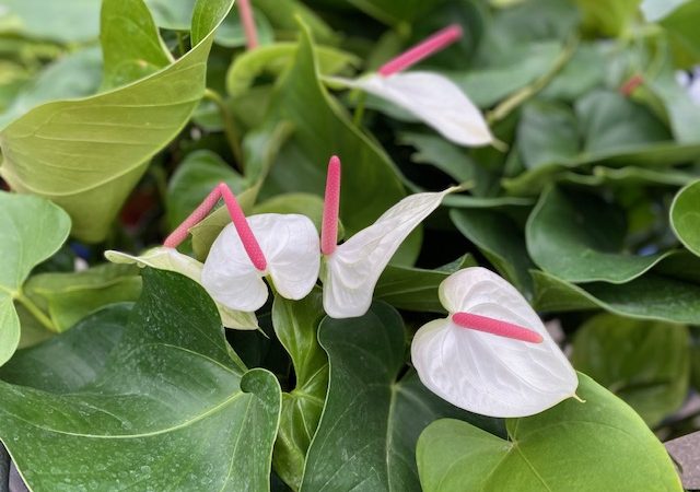
[[[182,273],[185,277],[201,284],[201,271],[203,265],[196,259],[178,253],[175,248],[159,246],[149,249],[143,255],[133,256],[126,253],[105,251],[105,257],[113,263],[138,265],[139,267],[151,267],[159,270],[168,270]],[[210,294],[211,295],[211,294]],[[238,330],[256,330],[258,329],[258,320],[255,313],[235,311],[217,303],[221,324],[226,328]]]

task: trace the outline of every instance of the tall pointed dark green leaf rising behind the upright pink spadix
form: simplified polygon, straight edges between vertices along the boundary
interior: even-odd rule
[[[372,224],[404,198],[396,168],[386,153],[341,113],[318,80],[318,63],[304,28],[294,63],[282,75],[270,103],[268,120],[289,120],[294,134],[284,145],[262,188],[266,195],[303,191],[322,196],[328,159],[346,163],[342,172],[340,218],[347,235]],[[377,190],[382,190],[377,192]],[[418,253],[413,234],[397,253],[411,262]]]

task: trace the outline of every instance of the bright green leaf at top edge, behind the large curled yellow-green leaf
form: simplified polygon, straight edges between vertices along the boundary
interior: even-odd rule
[[[173,61],[143,0],[103,0],[100,40],[103,89],[142,79]]]

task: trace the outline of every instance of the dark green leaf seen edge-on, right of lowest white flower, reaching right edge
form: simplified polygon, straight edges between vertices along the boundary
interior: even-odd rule
[[[574,285],[542,271],[533,271],[535,308],[549,312],[603,308],[638,319],[700,324],[700,285],[653,271],[615,285],[593,282]]]

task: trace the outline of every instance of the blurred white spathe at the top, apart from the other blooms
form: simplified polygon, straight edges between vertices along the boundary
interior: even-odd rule
[[[479,147],[493,142],[479,108],[446,77],[416,71],[331,80],[396,104],[459,145]]]

